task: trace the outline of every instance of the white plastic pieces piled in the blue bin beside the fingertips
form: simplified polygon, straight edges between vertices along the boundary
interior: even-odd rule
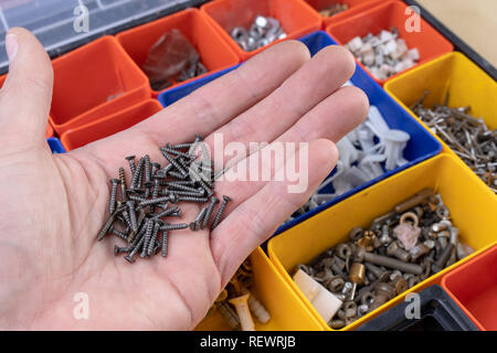
[[[371,106],[368,118],[337,143],[340,158],[335,173],[286,222],[408,163],[403,151],[410,138],[403,130],[391,129],[380,110]]]

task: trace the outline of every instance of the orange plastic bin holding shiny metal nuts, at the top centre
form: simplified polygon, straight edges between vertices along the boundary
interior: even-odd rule
[[[287,39],[298,39],[321,28],[321,15],[302,0],[216,0],[205,3],[201,10],[243,61],[282,41],[246,52],[231,39],[233,28],[248,29],[257,14],[277,19]]]

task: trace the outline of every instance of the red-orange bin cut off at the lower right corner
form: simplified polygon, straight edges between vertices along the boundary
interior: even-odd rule
[[[446,274],[442,287],[478,329],[497,331],[497,243]]]

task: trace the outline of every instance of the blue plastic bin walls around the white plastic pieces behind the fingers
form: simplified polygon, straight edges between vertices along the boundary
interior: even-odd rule
[[[310,55],[316,54],[325,46],[337,45],[337,42],[335,42],[331,36],[322,31],[308,34],[302,38],[300,41],[307,45]],[[442,151],[442,145],[430,133],[430,131],[424,129],[415,119],[413,119],[409,113],[405,111],[395,100],[393,100],[393,98],[390,97],[390,95],[359,65],[356,65],[356,72],[350,81],[353,85],[361,88],[368,95],[369,103],[378,107],[390,128],[403,130],[411,136],[403,154],[409,162],[394,170],[388,171],[381,176],[370,180],[369,182],[363,183],[362,185],[355,188],[300,216],[295,217],[293,221],[279,226],[274,235],[284,232],[340,202],[341,200],[345,200],[392,174],[410,168],[411,165],[432,158]],[[335,172],[335,170],[332,172]]]

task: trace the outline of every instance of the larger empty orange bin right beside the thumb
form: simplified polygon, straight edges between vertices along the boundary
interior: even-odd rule
[[[147,76],[114,36],[53,61],[51,124],[62,135],[150,98]]]

